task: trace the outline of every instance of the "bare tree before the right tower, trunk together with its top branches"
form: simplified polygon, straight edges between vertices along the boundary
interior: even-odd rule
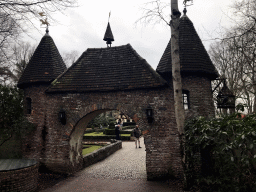
[[[184,0],[186,5],[190,0]],[[171,6],[170,6],[171,5]],[[171,22],[168,22],[164,14],[165,9],[171,7]],[[143,16],[136,21],[145,24],[156,24],[164,22],[171,28],[171,50],[172,50],[172,77],[174,89],[175,117],[180,135],[184,134],[185,114],[182,100],[182,83],[180,75],[180,58],[179,58],[179,18],[181,13],[178,9],[178,1],[170,0],[170,4],[163,3],[160,0],[154,0],[146,3],[143,10]]]

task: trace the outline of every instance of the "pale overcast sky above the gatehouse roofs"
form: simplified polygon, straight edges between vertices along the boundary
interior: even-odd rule
[[[164,24],[135,25],[136,20],[142,16],[140,7],[150,0],[78,0],[79,7],[68,9],[65,15],[57,14],[54,18],[59,23],[49,27],[60,53],[77,50],[80,54],[88,48],[106,47],[103,37],[106,31],[109,12],[111,11],[110,26],[115,41],[112,46],[126,45],[128,43],[147,62],[156,69],[158,62],[170,39],[170,28]],[[162,0],[169,3],[169,0]],[[183,0],[179,0],[179,10],[182,12]],[[187,16],[193,22],[196,31],[208,50],[212,41],[209,39],[219,37],[220,26],[229,27],[230,0],[194,0],[192,6],[187,7]],[[167,9],[167,14],[170,9]],[[167,17],[170,20],[170,18]],[[40,22],[35,23],[40,28]],[[41,34],[34,31],[30,41],[36,46],[40,42],[45,28],[41,27]]]

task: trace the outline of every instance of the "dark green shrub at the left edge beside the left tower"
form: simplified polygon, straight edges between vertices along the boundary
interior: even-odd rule
[[[33,128],[23,116],[22,91],[0,85],[0,146],[14,136],[22,138]]]

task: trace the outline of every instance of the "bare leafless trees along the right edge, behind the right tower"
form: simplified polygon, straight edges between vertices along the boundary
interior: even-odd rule
[[[236,1],[233,10],[235,26],[211,45],[210,55],[237,101],[252,113],[256,111],[256,2]]]

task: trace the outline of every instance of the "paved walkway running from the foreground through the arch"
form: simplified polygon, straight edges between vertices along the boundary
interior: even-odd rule
[[[56,184],[44,192],[170,192],[166,182],[147,181],[146,152],[135,148],[134,142],[123,142],[122,149],[105,160],[83,169],[74,176]]]

